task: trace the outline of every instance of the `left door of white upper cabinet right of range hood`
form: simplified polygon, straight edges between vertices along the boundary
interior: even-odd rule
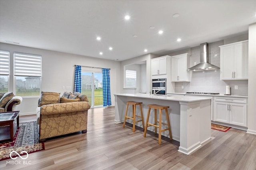
[[[231,80],[234,72],[234,45],[220,48],[220,80]]]

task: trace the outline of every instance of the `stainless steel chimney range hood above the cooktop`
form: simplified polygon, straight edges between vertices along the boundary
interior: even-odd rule
[[[188,71],[218,70],[220,67],[208,63],[208,43],[200,44],[200,63],[188,68]]]

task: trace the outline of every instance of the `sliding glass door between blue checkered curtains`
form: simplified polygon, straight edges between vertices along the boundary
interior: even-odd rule
[[[82,71],[82,94],[91,106],[103,106],[102,73]]]

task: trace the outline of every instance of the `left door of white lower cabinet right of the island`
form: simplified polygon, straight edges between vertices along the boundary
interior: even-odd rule
[[[214,121],[229,123],[229,110],[227,102],[214,102]]]

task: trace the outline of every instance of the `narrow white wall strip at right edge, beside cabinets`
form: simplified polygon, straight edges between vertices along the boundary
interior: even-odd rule
[[[249,25],[248,133],[256,135],[256,23]]]

